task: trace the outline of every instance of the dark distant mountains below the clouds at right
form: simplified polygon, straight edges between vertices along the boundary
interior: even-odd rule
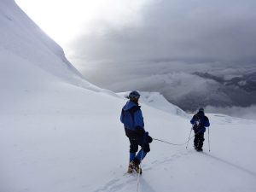
[[[214,106],[214,107],[231,107],[240,106],[248,107],[256,104],[256,73],[242,74],[240,77],[227,79],[218,77],[211,73],[193,73],[202,79],[212,80],[216,84],[209,84],[207,91],[192,92],[182,98],[173,100],[169,96],[166,98],[177,104],[184,110],[193,111],[199,106]],[[164,94],[165,95],[165,94]]]

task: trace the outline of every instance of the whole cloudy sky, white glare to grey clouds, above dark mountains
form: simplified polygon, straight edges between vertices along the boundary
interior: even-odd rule
[[[86,79],[110,90],[161,91],[173,102],[219,90],[195,72],[256,71],[255,0],[16,2]]]

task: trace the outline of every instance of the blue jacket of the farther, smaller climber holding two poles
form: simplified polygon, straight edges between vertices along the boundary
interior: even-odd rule
[[[196,123],[197,122],[197,123]],[[209,119],[207,118],[207,116],[205,116],[204,113],[202,112],[198,112],[196,113],[193,118],[190,120],[190,123],[193,126],[193,130],[196,133],[204,133],[206,131],[206,126],[210,126],[210,122]]]

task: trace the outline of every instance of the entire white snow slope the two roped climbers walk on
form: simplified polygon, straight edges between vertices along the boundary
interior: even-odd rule
[[[136,191],[137,175],[124,175],[126,100],[84,80],[13,1],[0,1],[0,28],[0,192]],[[142,102],[146,130],[185,143],[189,119],[155,103]],[[256,190],[256,122],[207,116],[211,152],[207,139],[203,153],[154,141],[139,191]]]

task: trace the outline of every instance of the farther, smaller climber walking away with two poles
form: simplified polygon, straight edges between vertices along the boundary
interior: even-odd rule
[[[202,151],[202,147],[205,141],[204,133],[206,131],[206,126],[210,126],[209,119],[207,116],[205,116],[203,108],[199,109],[199,111],[190,120],[190,123],[193,125],[193,130],[195,131],[195,150]]]

